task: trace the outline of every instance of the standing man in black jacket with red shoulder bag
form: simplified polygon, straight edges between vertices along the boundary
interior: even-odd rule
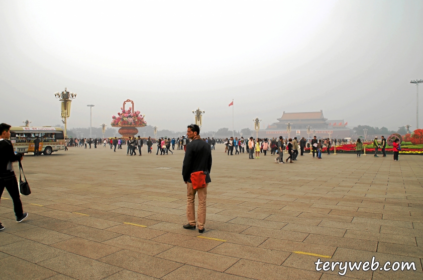
[[[182,177],[187,184],[187,218],[185,229],[196,229],[195,197],[198,195],[198,232],[203,233],[206,225],[207,186],[212,181],[212,150],[206,141],[200,137],[200,127],[189,125],[187,136],[192,141],[186,146]]]

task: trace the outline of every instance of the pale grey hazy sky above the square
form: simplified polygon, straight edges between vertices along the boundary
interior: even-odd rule
[[[149,125],[253,128],[323,110],[350,127],[416,126],[422,0],[0,0],[0,122],[93,127],[126,99]],[[423,102],[423,84],[421,84]],[[423,104],[421,102],[421,104]],[[423,127],[423,107],[421,109]]]

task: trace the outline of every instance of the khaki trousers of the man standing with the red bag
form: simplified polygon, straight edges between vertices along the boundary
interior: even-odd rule
[[[197,219],[198,219],[198,228],[202,230],[206,224],[206,197],[207,197],[207,186],[201,189],[193,189],[193,184],[187,182],[187,218],[190,225],[196,225],[196,208],[195,208],[195,199],[196,193],[198,195],[198,209],[197,209]]]

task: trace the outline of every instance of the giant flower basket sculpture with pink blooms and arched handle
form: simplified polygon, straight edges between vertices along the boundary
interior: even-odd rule
[[[125,104],[130,102],[132,107],[125,110]],[[123,106],[120,107],[121,112],[117,113],[116,116],[111,116],[112,121],[110,125],[115,128],[120,128],[118,133],[123,137],[133,137],[138,133],[136,128],[143,128],[147,125],[144,120],[145,115],[141,115],[139,111],[134,111],[134,102],[127,99],[123,102]]]

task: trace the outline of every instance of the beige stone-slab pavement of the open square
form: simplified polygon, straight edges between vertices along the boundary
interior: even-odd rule
[[[200,235],[182,228],[183,151],[126,156],[125,148],[24,157],[29,217],[15,222],[4,191],[0,279],[423,279],[422,156],[306,153],[276,164],[217,145]],[[341,277],[314,264],[373,256],[416,271]]]

